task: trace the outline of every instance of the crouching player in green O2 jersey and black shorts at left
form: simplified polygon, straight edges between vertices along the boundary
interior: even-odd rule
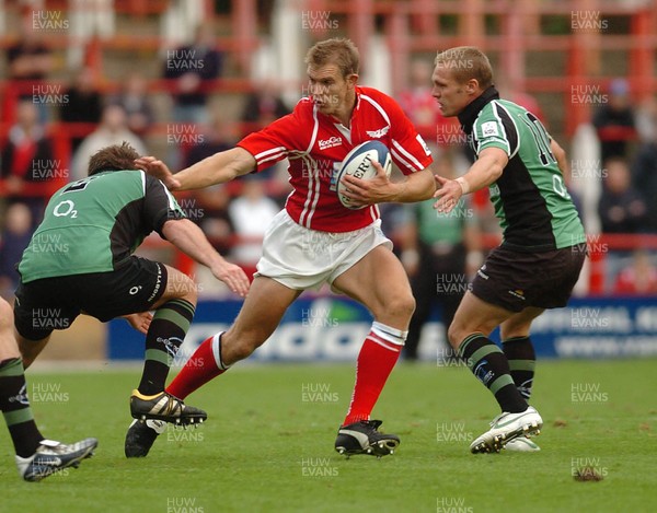
[[[146,335],[143,374],[130,396],[130,413],[135,422],[163,429],[162,422],[207,418],[164,390],[194,317],[196,287],[183,272],[132,253],[155,231],[233,292],[245,295],[249,279],[214,249],[160,180],[135,168],[138,158],[125,142],[104,148],[90,159],[87,178],[50,198],[18,267],[14,325],[27,368],[53,330],[68,328],[81,313],[101,322],[126,317]]]

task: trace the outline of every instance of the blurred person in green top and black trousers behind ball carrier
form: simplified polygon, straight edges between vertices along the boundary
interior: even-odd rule
[[[456,178],[451,160],[445,155],[436,162],[437,173]],[[431,308],[441,310],[443,348],[441,359],[454,357],[447,338],[461,298],[468,290],[468,278],[481,265],[480,231],[469,202],[460,201],[450,213],[438,213],[435,201],[408,206],[410,217],[402,240],[401,260],[411,279],[416,307],[404,346],[407,360],[417,359],[422,328]]]

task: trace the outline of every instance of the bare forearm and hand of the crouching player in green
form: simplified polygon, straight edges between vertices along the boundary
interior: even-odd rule
[[[226,261],[203,231],[188,219],[171,219],[162,226],[166,240],[194,260],[207,266],[215,278],[242,298],[249,292],[249,278],[241,267]]]

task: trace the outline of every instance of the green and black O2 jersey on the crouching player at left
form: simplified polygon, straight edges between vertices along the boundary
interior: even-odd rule
[[[164,238],[162,225],[184,217],[164,184],[142,171],[92,175],[53,195],[19,272],[27,283],[118,269],[149,233]]]

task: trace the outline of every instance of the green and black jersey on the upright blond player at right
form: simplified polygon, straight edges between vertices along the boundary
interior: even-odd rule
[[[499,148],[509,162],[488,187],[503,245],[520,252],[546,252],[586,242],[584,226],[566,187],[551,137],[526,108],[499,100],[488,88],[459,115],[474,152]]]

